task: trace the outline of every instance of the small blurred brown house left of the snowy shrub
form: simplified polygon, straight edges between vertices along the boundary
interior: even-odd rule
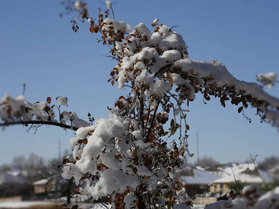
[[[52,178],[38,180],[33,183],[33,186],[35,194],[45,196],[56,191],[56,180]]]

